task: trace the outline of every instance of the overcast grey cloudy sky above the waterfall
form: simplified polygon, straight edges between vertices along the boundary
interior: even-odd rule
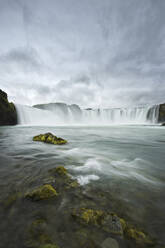
[[[165,102],[165,0],[0,0],[0,88],[14,103]]]

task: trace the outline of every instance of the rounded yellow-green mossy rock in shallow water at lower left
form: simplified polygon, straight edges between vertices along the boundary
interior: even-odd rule
[[[25,197],[30,198],[33,201],[40,201],[50,199],[57,195],[57,191],[50,184],[45,184],[34,189],[32,192],[27,193]]]

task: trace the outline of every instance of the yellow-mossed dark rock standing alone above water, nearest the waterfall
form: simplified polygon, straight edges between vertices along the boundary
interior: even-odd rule
[[[66,140],[62,138],[58,138],[52,133],[45,133],[45,134],[34,136],[33,141],[41,141],[41,142],[49,143],[53,145],[63,145],[67,143]]]

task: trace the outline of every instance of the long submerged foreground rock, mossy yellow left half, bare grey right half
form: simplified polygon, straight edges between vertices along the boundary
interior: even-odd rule
[[[123,229],[119,217],[114,213],[107,213],[94,209],[74,209],[72,216],[81,224],[101,227],[104,231],[122,235]]]

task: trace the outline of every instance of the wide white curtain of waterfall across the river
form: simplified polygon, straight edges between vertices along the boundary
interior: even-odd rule
[[[21,125],[111,125],[156,124],[159,105],[81,110],[74,105],[55,106],[49,110],[17,105]]]

